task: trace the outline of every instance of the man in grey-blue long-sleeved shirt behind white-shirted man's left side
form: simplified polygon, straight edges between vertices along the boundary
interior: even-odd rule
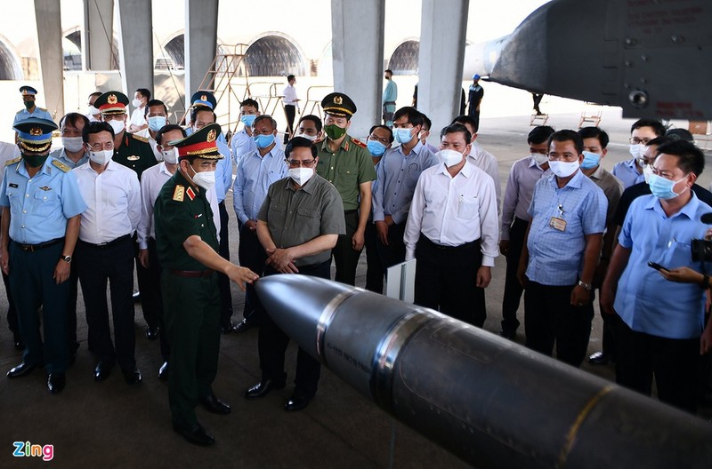
[[[423,115],[415,107],[401,107],[393,115],[393,136],[400,146],[385,150],[373,185],[373,221],[377,249],[384,269],[403,262],[403,234],[417,179],[438,159],[418,139]]]

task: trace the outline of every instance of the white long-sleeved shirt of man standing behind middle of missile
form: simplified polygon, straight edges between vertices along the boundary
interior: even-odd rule
[[[492,178],[466,162],[455,177],[444,163],[426,169],[417,181],[403,241],[406,260],[416,257],[421,233],[443,246],[481,240],[482,266],[494,266],[498,219]]]

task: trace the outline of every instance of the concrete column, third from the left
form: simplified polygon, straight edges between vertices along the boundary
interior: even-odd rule
[[[129,99],[136,88],[153,92],[153,27],[151,0],[121,0],[118,27],[121,45],[121,81]]]

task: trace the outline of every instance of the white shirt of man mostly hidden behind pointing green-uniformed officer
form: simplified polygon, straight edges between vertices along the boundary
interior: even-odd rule
[[[149,238],[156,239],[156,229],[153,224],[153,205],[156,203],[158,193],[163,185],[172,177],[173,174],[168,171],[165,162],[158,163],[143,171],[141,176],[141,220],[137,229],[139,249],[148,249]],[[217,195],[214,186],[206,192],[206,197],[207,202],[210,203],[210,208],[213,210],[213,221],[215,228],[217,228],[217,240],[220,242],[220,212],[217,207]]]

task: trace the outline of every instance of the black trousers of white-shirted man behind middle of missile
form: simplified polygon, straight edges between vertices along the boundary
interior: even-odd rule
[[[416,305],[481,328],[487,312],[484,289],[475,286],[482,263],[480,241],[447,247],[420,235],[416,259]]]

